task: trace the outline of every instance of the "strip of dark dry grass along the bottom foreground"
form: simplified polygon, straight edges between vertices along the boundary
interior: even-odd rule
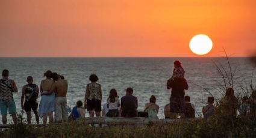
[[[86,121],[33,127],[19,124],[0,137],[256,137],[256,121],[237,118],[236,125],[230,125],[229,117],[216,113],[208,120],[182,119],[173,124],[111,125],[93,127]]]

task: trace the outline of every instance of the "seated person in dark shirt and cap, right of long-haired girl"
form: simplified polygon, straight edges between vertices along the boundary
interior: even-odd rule
[[[133,118],[137,116],[138,99],[133,95],[133,88],[126,89],[126,95],[121,98],[121,116]]]

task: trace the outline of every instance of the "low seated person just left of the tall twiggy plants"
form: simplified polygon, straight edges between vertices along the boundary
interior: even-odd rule
[[[207,105],[202,107],[202,114],[204,115],[204,119],[207,119],[213,113],[215,112],[215,107],[214,107],[214,98],[213,97],[208,97],[207,100]]]

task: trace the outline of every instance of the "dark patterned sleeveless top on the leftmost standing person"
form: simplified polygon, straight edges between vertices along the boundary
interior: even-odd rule
[[[11,79],[3,80],[6,85],[11,86]],[[0,81],[0,101],[10,101],[13,100],[13,91],[6,86],[2,81]]]

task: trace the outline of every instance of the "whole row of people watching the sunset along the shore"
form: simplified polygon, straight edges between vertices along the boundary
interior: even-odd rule
[[[164,107],[165,118],[195,118],[195,106],[190,103],[190,97],[185,95],[185,90],[189,89],[187,80],[184,78],[186,71],[183,69],[180,61],[174,62],[172,77],[167,81],[167,89],[171,89],[170,102]],[[17,92],[17,86],[14,80],[8,78],[9,71],[2,71],[0,82],[0,109],[2,115],[2,124],[7,124],[7,110],[13,118],[14,124],[17,124],[16,104],[13,100],[13,92]],[[64,76],[52,71],[44,73],[46,77],[37,86],[33,83],[33,77],[27,77],[27,84],[22,88],[21,107],[27,113],[27,122],[31,124],[31,110],[39,124],[39,118],[43,119],[43,124],[62,122],[75,119],[84,119],[85,110],[89,116],[107,116],[107,117],[126,117],[136,116],[158,119],[159,106],[156,104],[157,98],[151,95],[149,103],[145,104],[144,112],[137,111],[138,99],[133,95],[133,88],[126,89],[126,95],[119,98],[116,89],[111,89],[106,103],[101,107],[102,90],[101,84],[97,83],[98,76],[90,75],[90,83],[86,86],[86,92],[83,101],[77,101],[76,106],[72,108],[70,115],[67,111],[67,80]],[[37,97],[41,95],[39,107]],[[202,107],[202,114],[207,119],[214,115],[216,105],[214,97],[208,97],[207,105]],[[237,110],[241,116],[255,118],[256,116],[256,91],[253,91],[251,97],[243,97],[242,103],[239,103],[234,96],[234,89],[227,88],[225,97],[220,100],[219,107],[223,108],[228,115],[237,116]],[[37,109],[39,109],[37,111]],[[54,112],[54,113],[53,113]]]

